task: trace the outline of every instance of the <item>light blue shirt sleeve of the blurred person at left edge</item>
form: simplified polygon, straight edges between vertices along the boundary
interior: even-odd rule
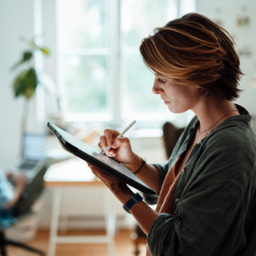
[[[13,200],[13,197],[13,188],[5,177],[4,172],[0,169],[0,208],[3,208],[5,204]]]

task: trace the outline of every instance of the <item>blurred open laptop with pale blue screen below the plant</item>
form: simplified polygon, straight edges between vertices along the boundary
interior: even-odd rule
[[[16,165],[16,173],[27,177],[31,183],[45,166],[45,135],[25,133],[23,135],[23,158]]]

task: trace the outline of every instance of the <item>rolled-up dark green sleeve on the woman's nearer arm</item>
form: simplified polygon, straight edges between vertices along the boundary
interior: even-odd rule
[[[221,240],[235,239],[229,226],[241,215],[241,191],[233,184],[218,183],[193,189],[177,204],[175,214],[160,214],[147,238],[150,254],[217,255]],[[236,219],[234,225],[240,225]]]

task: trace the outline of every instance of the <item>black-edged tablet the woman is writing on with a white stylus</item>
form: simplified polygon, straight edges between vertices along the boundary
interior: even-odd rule
[[[63,131],[63,129],[54,124],[48,123],[46,126],[50,128],[54,135],[56,135],[60,145],[64,150],[67,150],[67,152],[74,154],[76,157],[79,157],[90,164],[93,164],[100,170],[105,171],[109,175],[118,178],[135,189],[146,193],[146,195],[150,197],[155,194],[153,189],[150,189],[150,187],[147,186],[146,183],[142,182],[142,180],[133,174],[132,171],[118,163],[116,160],[111,157],[107,157],[99,150],[92,148],[92,146],[88,146],[85,142],[81,142],[81,140]]]

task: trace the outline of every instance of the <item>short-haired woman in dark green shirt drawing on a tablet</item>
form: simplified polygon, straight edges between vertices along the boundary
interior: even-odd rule
[[[142,40],[153,93],[172,113],[196,114],[163,165],[145,164],[117,131],[100,138],[103,150],[112,146],[107,156],[159,195],[156,211],[142,200],[129,210],[146,233],[147,255],[255,255],[256,135],[247,110],[233,103],[242,75],[234,45],[227,31],[197,13]],[[126,184],[88,166],[122,204],[131,199]]]

